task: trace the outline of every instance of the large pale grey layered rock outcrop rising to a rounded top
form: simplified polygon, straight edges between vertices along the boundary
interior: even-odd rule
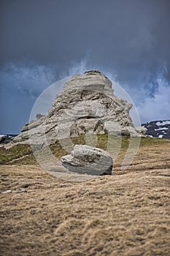
[[[113,94],[112,82],[92,70],[73,75],[57,94],[47,116],[38,116],[21,130],[12,143],[50,144],[85,133],[143,136],[146,129],[134,127],[132,105]]]

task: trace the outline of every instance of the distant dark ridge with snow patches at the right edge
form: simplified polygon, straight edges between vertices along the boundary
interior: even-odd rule
[[[147,128],[147,136],[157,138],[170,138],[170,120],[150,121],[142,124]]]

